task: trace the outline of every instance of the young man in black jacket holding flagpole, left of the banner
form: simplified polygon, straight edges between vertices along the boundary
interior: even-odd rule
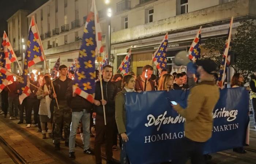
[[[106,65],[103,67],[102,75],[103,99],[101,96],[101,85],[99,81],[96,82],[95,87],[95,105],[93,117],[96,117],[96,138],[94,151],[96,164],[101,164],[101,144],[103,143],[105,138],[107,164],[112,164],[114,163],[114,160],[112,158],[113,133],[115,125],[114,98],[117,94],[117,87],[110,81],[112,77],[112,67],[110,65]],[[105,105],[106,125],[104,123],[103,105]]]

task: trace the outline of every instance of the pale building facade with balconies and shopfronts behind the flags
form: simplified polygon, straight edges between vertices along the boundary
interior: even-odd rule
[[[168,70],[176,71],[172,58],[188,50],[202,27],[202,43],[208,38],[226,37],[231,16],[233,31],[241,20],[255,19],[255,0],[96,0],[105,44],[108,32],[106,12],[112,9],[111,56],[114,72],[132,48],[132,67],[140,74],[144,65],[153,65],[152,54],[166,32]],[[52,68],[60,56],[61,64],[70,66],[78,57],[86,16],[91,0],[49,0],[27,15],[28,25],[35,16],[47,62]],[[9,26],[9,24],[8,24]],[[16,44],[16,43],[15,43]],[[206,54],[202,50],[202,54]],[[43,64],[41,63],[41,68]]]

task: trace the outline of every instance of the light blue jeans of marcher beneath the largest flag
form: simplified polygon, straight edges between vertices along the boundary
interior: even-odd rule
[[[91,113],[87,112],[86,109],[83,109],[83,111],[81,112],[72,112],[72,122],[70,125],[70,134],[69,134],[69,152],[75,152],[76,130],[78,128],[78,124],[80,120],[82,120],[82,124],[83,124],[83,140],[84,140],[83,149],[84,150],[89,149],[90,116],[91,116]]]

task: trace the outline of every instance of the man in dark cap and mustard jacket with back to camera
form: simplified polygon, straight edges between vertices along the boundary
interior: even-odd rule
[[[219,99],[219,88],[214,81],[216,64],[209,59],[197,60],[200,83],[195,85],[188,96],[187,108],[172,105],[182,117],[185,137],[177,144],[173,164],[185,164],[191,157],[192,164],[204,164],[203,147],[212,136],[212,110]]]

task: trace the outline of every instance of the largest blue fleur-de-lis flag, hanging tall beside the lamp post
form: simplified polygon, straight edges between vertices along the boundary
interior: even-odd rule
[[[93,103],[95,93],[95,54],[97,53],[97,37],[101,35],[97,31],[99,22],[97,20],[97,9],[93,0],[91,11],[87,16],[84,27],[82,45],[79,50],[79,58],[76,64],[76,76],[73,85],[73,92]],[[97,34],[98,36],[96,37]],[[99,48],[98,47],[98,48]]]

